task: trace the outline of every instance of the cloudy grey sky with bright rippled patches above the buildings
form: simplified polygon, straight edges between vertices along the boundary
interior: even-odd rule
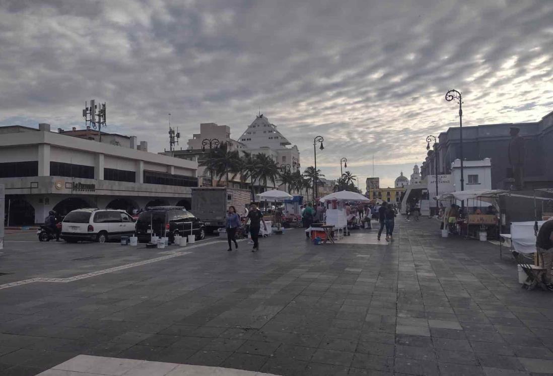
[[[259,108],[312,163],[340,158],[383,185],[458,124],[553,111],[553,1],[0,0],[0,125],[82,127],[107,102],[108,131],[168,147],[201,122],[238,138]]]

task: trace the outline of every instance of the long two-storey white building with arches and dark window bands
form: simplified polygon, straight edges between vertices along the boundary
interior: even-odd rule
[[[0,184],[13,225],[43,223],[50,210],[65,215],[78,207],[190,207],[197,186],[195,161],[138,150],[136,138],[126,147],[102,133],[100,143],[50,132],[49,124],[0,127],[0,134]]]

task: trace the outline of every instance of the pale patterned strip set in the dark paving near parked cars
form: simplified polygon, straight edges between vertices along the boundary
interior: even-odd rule
[[[15,282],[11,282],[11,283],[5,283],[5,284],[0,285],[0,290],[9,289],[9,288],[15,287],[15,286],[27,285],[29,283],[35,283],[35,282],[68,283],[68,282],[72,282],[72,281],[78,281],[78,280],[85,279],[85,278],[95,277],[97,275],[113,273],[114,271],[139,267],[141,265],[152,264],[152,263],[156,263],[158,261],[167,260],[167,259],[174,258],[174,257],[179,257],[179,256],[184,256],[185,254],[190,254],[192,252],[182,252],[182,250],[199,248],[199,247],[208,246],[210,244],[217,244],[217,243],[226,243],[226,242],[224,242],[224,241],[215,241],[215,242],[209,242],[209,243],[196,244],[194,246],[187,246],[187,247],[177,248],[177,249],[173,250],[171,254],[168,254],[166,256],[161,256],[161,257],[156,257],[156,258],[153,258],[153,259],[143,260],[143,261],[135,262],[135,263],[132,263],[132,264],[121,265],[119,267],[103,269],[103,270],[98,270],[98,271],[91,271],[90,273],[75,275],[75,276],[72,276],[72,277],[69,277],[69,278],[40,278],[39,277],[39,278],[24,279],[24,280],[21,280],[21,281],[15,281]]]

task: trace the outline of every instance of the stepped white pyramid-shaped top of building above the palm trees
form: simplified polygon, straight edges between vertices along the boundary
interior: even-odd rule
[[[287,145],[291,145],[291,142],[280,134],[276,126],[271,124],[269,119],[261,113],[255,116],[255,120],[249,124],[238,141],[246,144],[248,149],[263,147],[283,149]]]

